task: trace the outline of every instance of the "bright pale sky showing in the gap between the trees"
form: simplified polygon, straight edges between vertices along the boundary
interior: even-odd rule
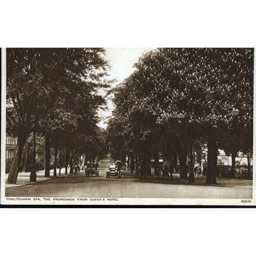
[[[153,50],[153,48],[106,48],[106,59],[109,60],[111,66],[109,78],[117,79],[115,85],[122,83],[125,78],[133,73],[133,64],[138,61],[142,53],[150,50]],[[110,99],[107,106],[109,110],[100,111],[99,113],[100,118],[102,118],[99,126],[103,128],[106,128],[107,117],[111,116],[113,110],[113,103]]]

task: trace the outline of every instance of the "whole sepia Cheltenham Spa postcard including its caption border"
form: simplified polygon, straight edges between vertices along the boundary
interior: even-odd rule
[[[255,49],[1,54],[2,205],[256,205]]]

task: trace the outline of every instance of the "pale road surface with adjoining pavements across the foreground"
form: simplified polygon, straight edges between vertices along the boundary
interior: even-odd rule
[[[205,176],[196,175],[195,183],[180,180],[179,174],[157,178],[153,175],[140,179],[129,170],[122,171],[122,178],[106,179],[109,162],[99,167],[99,177],[86,177],[79,174],[63,175],[57,178],[44,178],[44,172],[37,173],[37,181],[29,182],[29,173],[20,173],[17,185],[22,187],[6,187],[5,196],[23,197],[115,197],[115,198],[252,198],[251,180],[231,180],[217,178],[217,185],[206,185]],[[52,175],[52,171],[51,171]],[[57,172],[58,175],[58,172]],[[25,177],[26,176],[26,177]],[[62,178],[62,179],[60,179]],[[29,185],[29,186],[25,186]]]

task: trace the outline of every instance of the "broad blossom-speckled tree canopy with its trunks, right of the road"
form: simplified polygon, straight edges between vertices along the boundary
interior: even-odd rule
[[[235,130],[239,138],[252,141],[247,127],[252,127],[253,117],[253,49],[159,48],[145,53],[134,67],[116,89],[110,125],[125,116],[125,141],[139,134],[138,141],[148,138],[147,148],[161,145],[162,136],[179,155],[181,178],[186,178],[188,145],[205,141],[206,181],[215,183],[223,136]],[[237,140],[235,134],[231,137]],[[230,140],[226,144],[232,145]]]

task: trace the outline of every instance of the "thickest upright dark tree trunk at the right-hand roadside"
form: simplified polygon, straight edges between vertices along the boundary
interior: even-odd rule
[[[207,144],[207,174],[206,174],[207,184],[217,184],[217,181],[216,181],[217,159],[218,159],[217,143],[216,143],[215,135],[211,134],[209,135],[208,144]]]

